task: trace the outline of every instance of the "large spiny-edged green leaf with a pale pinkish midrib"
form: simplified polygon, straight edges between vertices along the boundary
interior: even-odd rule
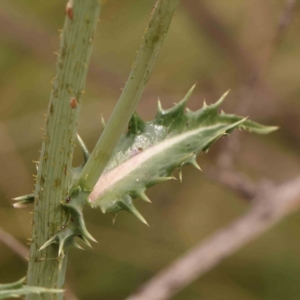
[[[153,121],[143,122],[136,114],[129,130],[118,143],[113,158],[99,178],[88,202],[114,218],[121,210],[133,213],[145,223],[132,200],[148,200],[145,190],[159,182],[174,178],[176,168],[191,164],[200,169],[196,157],[206,152],[220,137],[235,128],[265,134],[277,129],[266,127],[246,118],[219,114],[225,93],[216,103],[198,111],[184,112],[192,87],[182,101],[164,110],[160,101]],[[179,173],[182,179],[181,173]]]

